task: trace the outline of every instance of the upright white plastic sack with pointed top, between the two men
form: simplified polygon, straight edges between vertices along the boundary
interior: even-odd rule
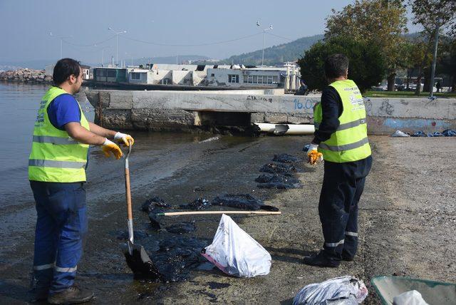
[[[225,214],[222,214],[212,244],[203,252],[202,256],[209,262],[232,276],[266,275],[271,269],[271,255]]]

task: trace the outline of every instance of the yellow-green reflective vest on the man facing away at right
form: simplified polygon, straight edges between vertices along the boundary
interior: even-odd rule
[[[342,115],[338,118],[340,125],[336,132],[326,141],[318,145],[318,151],[323,154],[323,160],[331,162],[353,162],[365,159],[371,155],[371,145],[368,141],[366,108],[363,95],[351,80],[335,81],[329,86],[336,89],[343,104]],[[322,120],[321,104],[314,112],[314,125],[318,129]]]

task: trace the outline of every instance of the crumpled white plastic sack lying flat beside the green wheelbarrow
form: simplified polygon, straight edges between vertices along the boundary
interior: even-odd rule
[[[363,281],[353,276],[341,276],[321,283],[304,286],[293,299],[293,305],[357,305],[368,296]]]

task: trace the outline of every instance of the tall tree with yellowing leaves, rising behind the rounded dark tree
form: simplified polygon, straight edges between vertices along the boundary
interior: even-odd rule
[[[395,71],[403,68],[403,47],[408,32],[406,8],[400,0],[356,0],[326,19],[326,38],[368,41],[385,54],[388,91],[394,90]]]

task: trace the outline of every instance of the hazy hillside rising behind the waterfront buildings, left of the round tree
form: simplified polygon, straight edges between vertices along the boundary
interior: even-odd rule
[[[265,48],[264,64],[276,65],[284,63],[284,61],[296,61],[304,55],[304,51],[308,50],[314,43],[321,39],[323,39],[323,35],[315,35],[299,38],[289,43],[279,44],[279,46]],[[261,65],[261,53],[261,49],[250,53],[242,53],[241,55],[224,59],[222,62],[239,63],[243,65]]]

